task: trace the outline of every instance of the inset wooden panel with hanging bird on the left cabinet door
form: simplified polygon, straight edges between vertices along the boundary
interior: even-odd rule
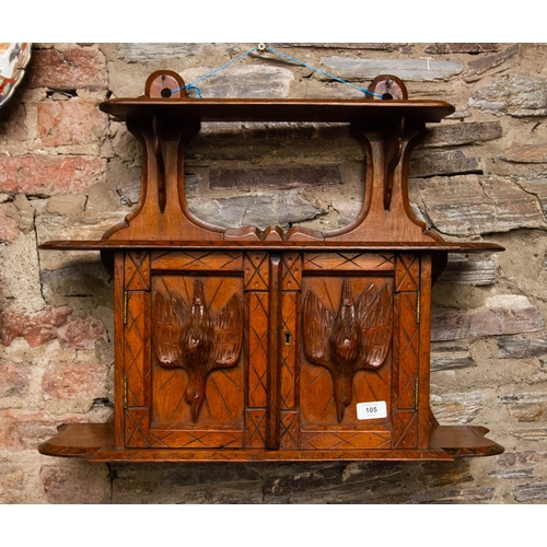
[[[244,317],[241,276],[153,276],[154,445],[242,446]]]

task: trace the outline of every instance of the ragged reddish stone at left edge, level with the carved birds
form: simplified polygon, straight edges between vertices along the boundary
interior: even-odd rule
[[[33,348],[54,339],[57,328],[67,323],[72,313],[69,307],[46,307],[33,313],[4,312],[0,315],[0,344],[10,346],[11,342],[23,336]]]

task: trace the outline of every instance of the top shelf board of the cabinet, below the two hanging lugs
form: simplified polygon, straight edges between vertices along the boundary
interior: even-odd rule
[[[293,98],[115,98],[100,105],[119,121],[151,115],[200,121],[359,123],[412,119],[439,123],[455,108],[444,101]]]

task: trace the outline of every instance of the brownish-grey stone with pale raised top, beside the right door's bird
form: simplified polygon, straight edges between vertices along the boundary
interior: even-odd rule
[[[431,339],[457,340],[543,330],[545,321],[526,296],[500,294],[472,310],[433,309]]]

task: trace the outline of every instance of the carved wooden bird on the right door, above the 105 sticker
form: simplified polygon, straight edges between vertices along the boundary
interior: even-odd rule
[[[338,314],[309,292],[304,301],[304,353],[329,370],[338,421],[352,399],[353,376],[359,370],[377,369],[392,340],[392,294],[371,283],[353,300],[349,280],[342,286]]]

